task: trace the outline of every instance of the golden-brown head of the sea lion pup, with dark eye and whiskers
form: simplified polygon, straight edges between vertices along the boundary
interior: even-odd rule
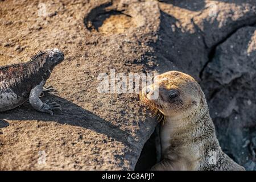
[[[154,98],[157,92],[158,97]],[[151,110],[160,111],[166,117],[189,115],[199,108],[205,99],[196,80],[177,71],[156,76],[154,84],[142,89],[140,98]]]

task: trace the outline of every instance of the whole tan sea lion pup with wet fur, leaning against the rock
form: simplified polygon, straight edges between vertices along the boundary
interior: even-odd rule
[[[152,170],[245,170],[222,152],[204,93],[194,78],[177,71],[163,73],[142,89],[140,98],[162,114],[163,160]]]

